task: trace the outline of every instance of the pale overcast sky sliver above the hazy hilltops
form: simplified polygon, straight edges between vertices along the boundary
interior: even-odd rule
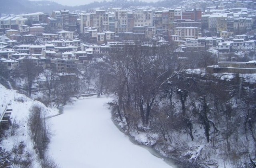
[[[39,1],[39,0],[30,0],[30,1]],[[50,0],[52,2],[57,2],[58,4],[67,5],[67,6],[78,6],[78,5],[85,5],[90,4],[94,1],[103,1],[103,0]],[[108,1],[108,0],[106,0]],[[142,0],[144,2],[152,2],[154,0]]]

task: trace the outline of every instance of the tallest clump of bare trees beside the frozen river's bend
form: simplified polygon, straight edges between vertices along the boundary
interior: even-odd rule
[[[119,118],[124,117],[127,123],[137,118],[136,122],[132,120],[135,127],[150,124],[156,98],[174,74],[175,68],[166,64],[171,58],[168,47],[161,48],[154,42],[129,44],[110,55],[114,81],[111,90],[116,95],[114,104]]]

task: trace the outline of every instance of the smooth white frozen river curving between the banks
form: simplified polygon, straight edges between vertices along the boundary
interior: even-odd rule
[[[107,102],[96,96],[78,100],[50,119],[54,161],[62,168],[172,168],[116,128]]]

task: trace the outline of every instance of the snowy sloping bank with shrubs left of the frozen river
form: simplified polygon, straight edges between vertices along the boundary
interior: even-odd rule
[[[0,84],[0,114],[4,112],[4,109],[7,106],[8,109],[12,109],[12,114],[10,116],[12,124],[15,122],[19,125],[13,136],[10,135],[11,128],[6,130],[1,139],[0,147],[10,152],[15,145],[24,142],[26,145],[25,150],[30,152],[34,167],[38,168],[39,165],[33,149],[33,142],[28,134],[27,124],[30,108],[34,105],[41,107],[46,117],[58,114],[58,109],[46,108],[41,102],[34,101],[24,94],[19,94],[16,90],[6,89]]]

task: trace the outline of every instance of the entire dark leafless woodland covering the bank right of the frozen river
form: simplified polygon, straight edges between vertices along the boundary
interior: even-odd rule
[[[184,61],[192,61],[183,64],[170,48],[145,43],[110,54],[108,87],[115,95],[111,105],[116,119],[128,131],[158,134],[153,146],[187,160],[184,167],[217,164],[210,159],[216,150],[227,160],[224,165],[253,167],[255,87],[239,75],[223,80],[221,74],[186,74],[184,65],[205,68],[215,58],[209,52],[185,56]]]

